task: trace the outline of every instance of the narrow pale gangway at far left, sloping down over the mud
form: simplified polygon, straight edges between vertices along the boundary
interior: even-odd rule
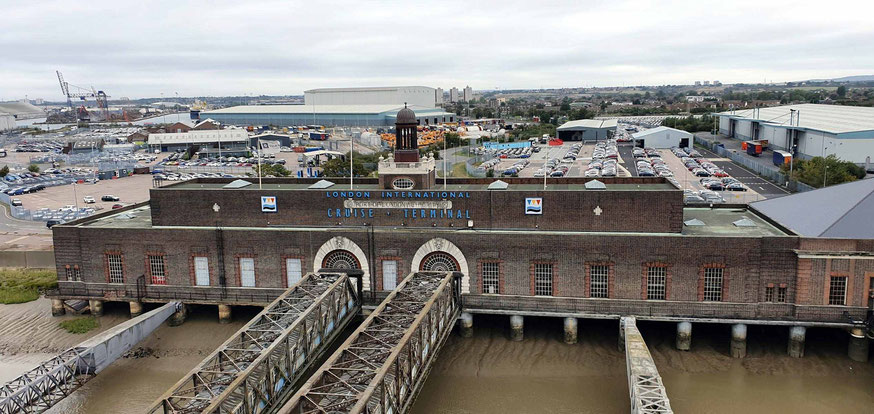
[[[0,387],[0,413],[48,410],[149,336],[182,306],[171,302],[114,326]]]

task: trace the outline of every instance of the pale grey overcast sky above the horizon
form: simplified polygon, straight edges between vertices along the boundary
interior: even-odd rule
[[[0,100],[874,74],[874,1],[0,0]]]

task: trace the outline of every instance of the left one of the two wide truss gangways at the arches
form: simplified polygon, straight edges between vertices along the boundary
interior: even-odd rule
[[[323,269],[305,275],[148,412],[258,413],[281,404],[359,313],[361,274]]]

